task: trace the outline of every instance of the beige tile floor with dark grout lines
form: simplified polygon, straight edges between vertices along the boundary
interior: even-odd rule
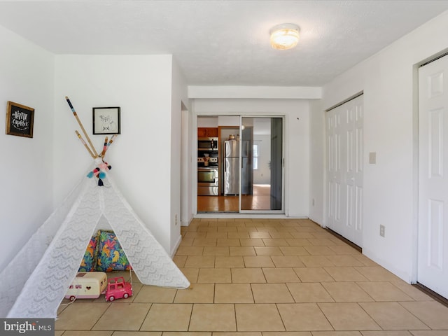
[[[304,219],[195,219],[192,283],[59,307],[64,336],[447,336],[448,308]],[[129,279],[130,274],[125,274]]]

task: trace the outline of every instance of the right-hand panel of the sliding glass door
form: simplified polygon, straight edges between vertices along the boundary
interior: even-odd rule
[[[283,118],[241,117],[241,212],[283,212]]]

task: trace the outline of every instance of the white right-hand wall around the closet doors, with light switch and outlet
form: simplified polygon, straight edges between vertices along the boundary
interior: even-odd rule
[[[447,48],[447,31],[445,12],[346,71],[323,90],[323,109],[364,91],[363,253],[405,281],[416,279],[414,66]],[[323,119],[318,116],[317,120]],[[370,152],[377,153],[376,165],[368,164]],[[316,165],[318,160],[314,158]],[[311,183],[317,179],[314,176]],[[380,224],[386,226],[384,238],[379,236]]]

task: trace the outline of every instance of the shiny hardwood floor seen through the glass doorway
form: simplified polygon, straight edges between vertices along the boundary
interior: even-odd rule
[[[239,196],[198,196],[197,212],[238,212]],[[253,186],[253,195],[242,195],[241,209],[244,210],[269,210],[270,186],[257,184]]]

